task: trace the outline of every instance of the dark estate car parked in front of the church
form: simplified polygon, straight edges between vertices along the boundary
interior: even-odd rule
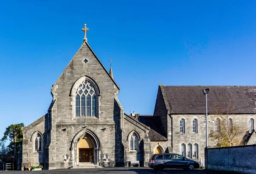
[[[194,170],[199,168],[200,165],[197,161],[190,160],[179,154],[154,154],[149,159],[148,167],[158,171],[163,171],[164,168]]]

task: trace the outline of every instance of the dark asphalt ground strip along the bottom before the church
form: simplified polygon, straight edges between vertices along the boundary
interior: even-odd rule
[[[87,168],[87,169],[58,169],[44,171],[2,171],[0,174],[235,174],[226,171],[207,171],[195,169],[194,171],[184,171],[183,169],[165,169],[164,171],[154,171],[146,167],[133,168]]]

